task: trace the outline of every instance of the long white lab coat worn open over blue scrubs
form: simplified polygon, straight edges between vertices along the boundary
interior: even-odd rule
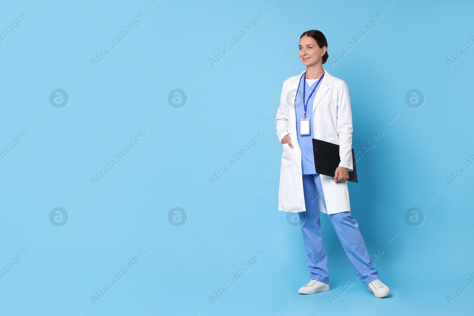
[[[339,145],[339,166],[352,171],[352,113],[349,90],[345,81],[331,76],[324,70],[324,78],[313,103],[314,138]],[[282,166],[280,169],[280,188],[278,191],[278,210],[286,212],[304,212],[306,206],[303,195],[301,172],[301,149],[296,131],[296,113],[294,99],[299,75],[290,77],[283,82],[280,106],[276,113],[276,135],[280,143],[283,136],[289,133],[293,148],[282,144]],[[335,182],[334,177],[320,175],[326,208],[321,196],[316,200],[319,211],[335,214],[350,211],[347,181]]]

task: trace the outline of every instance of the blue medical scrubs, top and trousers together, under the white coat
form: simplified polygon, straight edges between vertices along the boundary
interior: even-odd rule
[[[306,205],[306,212],[299,212],[301,222],[301,231],[303,233],[303,242],[306,248],[306,265],[310,270],[310,279],[319,280],[320,282],[329,284],[329,269],[328,256],[326,253],[326,246],[324,245],[323,236],[321,234],[321,222],[319,213],[324,212],[318,209],[317,199],[322,199],[322,204],[326,208],[326,200],[324,199],[324,192],[321,184],[321,179],[314,166],[313,157],[313,102],[319,86],[311,96],[308,107],[306,109],[306,117],[311,117],[310,135],[299,135],[300,131],[300,117],[304,116],[303,108],[303,73],[298,87],[297,98],[295,99],[296,111],[296,131],[298,137],[298,144],[301,147],[301,169],[303,181],[304,202]],[[323,79],[324,80],[324,79]],[[321,80],[322,81],[322,80]],[[310,87],[306,83],[306,100],[309,97],[314,85],[318,80],[314,81]],[[320,85],[321,83],[319,83]],[[332,180],[331,180],[332,181]],[[320,205],[320,204],[319,204]],[[367,248],[365,247],[364,239],[359,231],[357,221],[351,217],[349,212],[339,212],[335,214],[328,214],[334,230],[339,237],[339,240],[346,252],[347,258],[352,267],[357,271],[357,276],[365,284],[379,278],[377,270],[371,265],[371,260]]]

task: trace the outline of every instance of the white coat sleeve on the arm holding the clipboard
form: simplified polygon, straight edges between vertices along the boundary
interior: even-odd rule
[[[337,137],[339,138],[339,167],[353,171],[352,165],[352,112],[349,88],[342,81],[337,90]]]

